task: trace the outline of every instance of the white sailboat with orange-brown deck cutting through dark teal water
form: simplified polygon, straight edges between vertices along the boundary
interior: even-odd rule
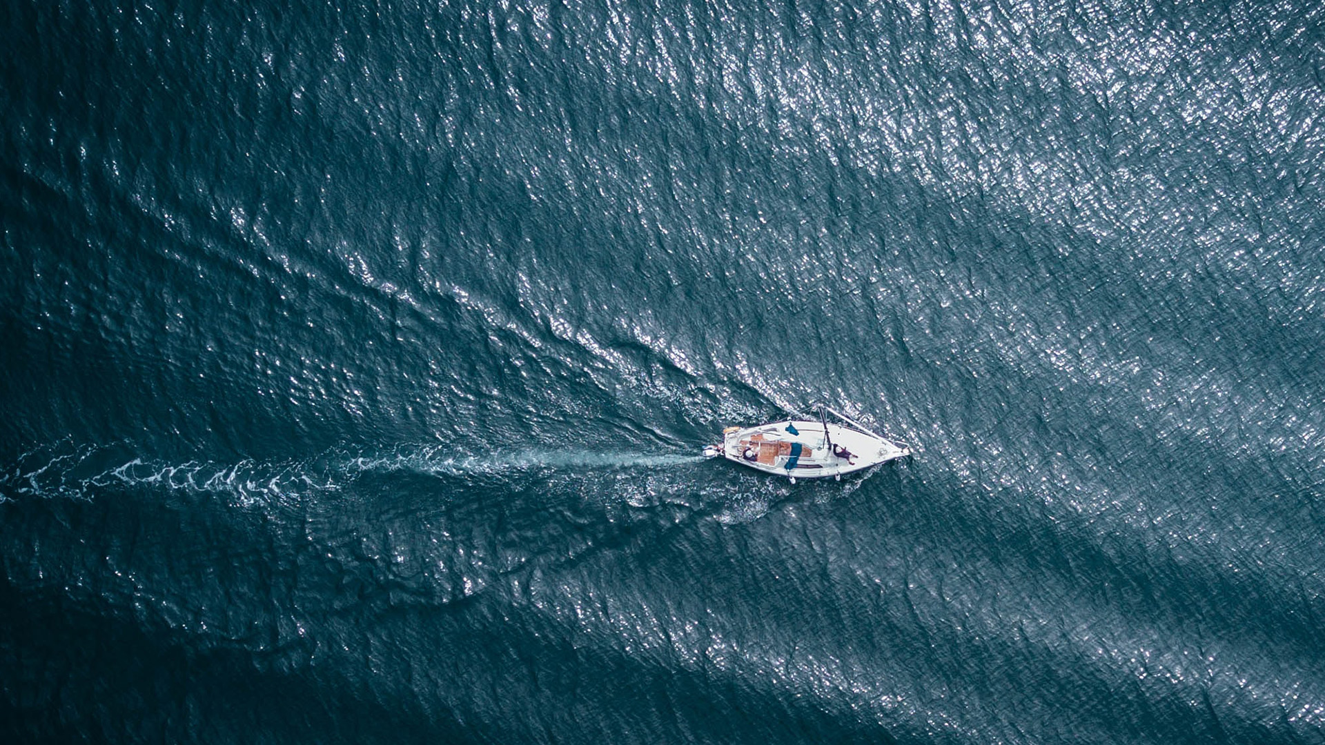
[[[828,422],[832,414],[841,423]],[[905,443],[889,440],[849,416],[820,407],[814,419],[784,419],[757,427],[727,427],[722,443],[704,448],[705,457],[725,457],[741,465],[796,479],[841,479],[880,463],[912,453]]]

